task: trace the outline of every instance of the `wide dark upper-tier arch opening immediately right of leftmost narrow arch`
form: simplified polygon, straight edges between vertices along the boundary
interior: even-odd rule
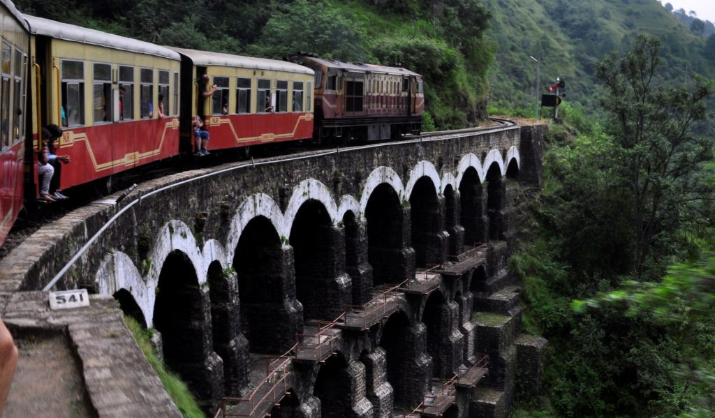
[[[247,222],[232,267],[250,351],[284,353],[302,331],[302,306],[295,300],[292,248],[282,245],[270,219],[259,216]]]

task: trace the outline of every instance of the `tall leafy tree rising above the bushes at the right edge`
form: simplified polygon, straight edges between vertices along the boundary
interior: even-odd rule
[[[679,224],[691,215],[689,205],[714,197],[712,187],[699,180],[715,141],[694,134],[696,124],[706,120],[713,86],[700,77],[687,87],[658,85],[659,51],[658,39],[641,35],[626,56],[613,54],[596,66],[604,84],[606,131],[621,161],[614,181],[631,195],[637,277],[652,249],[674,241]]]

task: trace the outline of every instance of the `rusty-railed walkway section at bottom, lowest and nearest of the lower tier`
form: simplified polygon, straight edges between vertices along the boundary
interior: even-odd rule
[[[282,356],[267,357],[266,377],[256,385],[248,397],[222,398],[215,417],[265,417],[269,412],[268,409],[280,402],[280,399],[285,397],[285,392],[290,389],[287,382],[290,372],[287,368],[292,362],[290,352],[293,352],[296,347],[297,344],[290,347]]]

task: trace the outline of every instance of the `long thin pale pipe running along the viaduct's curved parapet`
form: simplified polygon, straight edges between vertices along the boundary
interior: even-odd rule
[[[59,71],[59,68],[58,68]],[[59,86],[59,84],[58,84]],[[59,109],[59,107],[58,107]],[[475,134],[490,134],[491,132],[495,131],[504,131],[504,130],[510,130],[510,129],[518,129],[518,126],[512,122],[508,121],[507,119],[495,119],[491,118],[494,121],[498,121],[499,123],[503,124],[504,126],[487,126],[483,128],[472,128],[472,129],[463,129],[460,131],[443,131],[443,132],[430,132],[429,134],[423,134],[425,137],[420,137],[418,139],[405,139],[403,141],[398,141],[398,144],[415,144],[419,142],[438,142],[438,141],[448,141],[451,139],[451,136],[455,136],[458,134],[470,134],[470,133],[475,133]],[[380,143],[380,144],[370,144],[370,145],[363,145],[363,146],[346,146],[345,148],[336,148],[335,150],[330,150],[330,151],[319,151],[316,154],[312,155],[305,155],[305,156],[287,156],[286,158],[279,158],[279,159],[268,159],[267,161],[250,161],[244,164],[237,164],[235,166],[230,166],[225,169],[217,169],[216,171],[212,171],[210,173],[206,174],[201,174],[199,176],[192,177],[190,179],[185,179],[182,181],[177,181],[176,183],[168,184],[167,186],[162,186],[159,187],[159,189],[154,189],[152,191],[148,191],[146,194],[140,194],[136,199],[129,201],[126,206],[123,206],[121,209],[117,210],[117,213],[114,214],[111,218],[107,220],[107,222],[102,225],[102,227],[99,228],[97,232],[90,237],[87,242],[79,249],[77,252],[74,254],[71,259],[69,259],[69,262],[66,262],[64,264],[64,267],[62,267],[59,272],[57,272],[54,277],[45,285],[45,287],[42,289],[43,292],[49,292],[57,282],[66,274],[69,272],[69,269],[74,266],[74,264],[77,262],[77,260],[81,259],[82,256],[84,255],[85,252],[89,249],[89,247],[92,247],[92,244],[94,242],[97,242],[99,237],[102,237],[104,232],[109,229],[109,227],[114,224],[114,222],[117,222],[117,219],[122,217],[122,215],[129,211],[129,209],[132,208],[135,204],[141,204],[142,199],[147,199],[150,196],[154,196],[155,194],[161,194],[163,191],[167,191],[169,189],[174,189],[174,187],[179,187],[183,186],[184,184],[190,184],[193,183],[194,181],[199,181],[202,179],[206,179],[212,176],[218,176],[220,174],[225,174],[230,171],[237,171],[240,169],[247,169],[250,167],[255,167],[255,166],[262,166],[262,165],[267,165],[267,164],[275,164],[277,162],[285,162],[285,161],[297,161],[297,160],[302,160],[302,159],[313,159],[317,158],[320,156],[326,156],[326,155],[332,155],[332,154],[340,154],[349,152],[349,151],[356,151],[360,149],[372,149],[372,148],[381,148],[384,146],[393,146],[395,145],[395,142],[390,141],[390,142],[385,142],[385,143]],[[115,203],[115,206],[117,206],[117,203]]]

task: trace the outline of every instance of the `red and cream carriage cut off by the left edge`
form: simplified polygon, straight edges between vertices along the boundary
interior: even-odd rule
[[[25,86],[29,34],[22,15],[0,1],[0,243],[22,208]]]

